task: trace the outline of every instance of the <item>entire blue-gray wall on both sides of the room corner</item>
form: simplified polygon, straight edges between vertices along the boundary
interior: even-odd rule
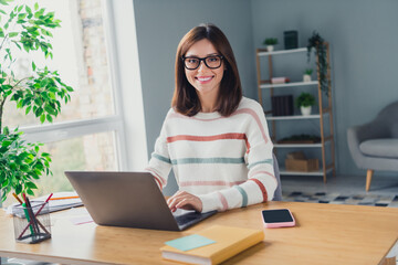
[[[251,98],[256,98],[254,49],[264,38],[279,38],[282,49],[283,31],[297,30],[305,46],[316,30],[331,43],[337,172],[364,174],[350,158],[346,130],[398,99],[398,1],[134,0],[134,8],[148,156],[170,106],[175,53],[188,30],[212,22],[226,33]],[[175,189],[172,182],[165,193]]]

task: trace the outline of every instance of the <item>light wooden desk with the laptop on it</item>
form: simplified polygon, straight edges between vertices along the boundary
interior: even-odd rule
[[[185,232],[73,225],[52,213],[52,239],[15,243],[12,218],[0,214],[0,256],[63,264],[176,264],[161,259],[164,242],[213,224],[262,229],[261,210],[289,208],[296,227],[265,230],[264,242],[227,264],[381,264],[398,239],[398,209],[269,202],[218,213]]]

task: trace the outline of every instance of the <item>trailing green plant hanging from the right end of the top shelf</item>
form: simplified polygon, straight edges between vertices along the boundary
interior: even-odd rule
[[[318,56],[316,61],[316,66],[318,68],[318,76],[321,83],[321,91],[325,92],[328,96],[329,94],[329,81],[327,78],[328,63],[327,63],[327,47],[324,39],[316,32],[313,32],[313,35],[308,39],[307,44],[307,61],[311,60],[311,51],[315,49],[315,53]]]

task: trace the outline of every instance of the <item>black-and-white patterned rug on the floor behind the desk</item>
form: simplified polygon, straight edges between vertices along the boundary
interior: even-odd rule
[[[339,194],[326,192],[301,192],[293,191],[282,194],[283,201],[333,203],[333,204],[355,204],[368,206],[390,206],[398,208],[398,194]]]

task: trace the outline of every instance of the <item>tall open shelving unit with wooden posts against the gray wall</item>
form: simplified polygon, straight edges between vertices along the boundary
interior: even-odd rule
[[[329,47],[328,44],[325,43],[326,45],[326,62],[327,64],[329,63]],[[284,168],[281,168],[281,174],[296,174],[296,176],[316,176],[316,177],[323,177],[324,182],[326,182],[326,174],[328,172],[333,172],[333,174],[335,174],[335,156],[334,156],[334,135],[333,135],[333,110],[332,110],[332,97],[329,95],[329,97],[327,98],[327,103],[326,100],[323,99],[323,93],[321,91],[321,85],[320,85],[320,76],[316,75],[317,78],[310,81],[310,82],[303,82],[303,80],[301,78],[293,78],[293,81],[291,82],[291,80],[284,80],[285,83],[280,83],[280,84],[272,84],[273,82],[277,82],[277,80],[273,80],[273,77],[283,77],[283,76],[290,76],[292,73],[296,73],[293,72],[293,70],[289,71],[287,73],[280,72],[279,68],[276,68],[274,71],[273,68],[273,61],[279,60],[281,57],[277,57],[276,55],[283,55],[284,56],[290,56],[291,54],[293,54],[293,57],[296,60],[302,59],[304,60],[305,55],[306,55],[307,49],[304,47],[298,47],[298,49],[292,49],[292,50],[280,50],[280,51],[272,51],[269,52],[266,51],[266,49],[256,49],[255,51],[255,57],[256,57],[256,73],[258,73],[258,95],[259,95],[259,103],[261,104],[261,106],[264,109],[264,99],[265,102],[272,102],[272,96],[279,95],[280,93],[282,93],[282,91],[279,89],[280,93],[274,94],[276,91],[274,91],[273,88],[284,88],[284,87],[290,87],[287,89],[285,89],[286,92],[295,92],[295,93],[300,93],[300,92],[312,92],[315,93],[315,91],[313,91],[315,87],[317,89],[317,102],[321,102],[321,106],[320,109],[314,112],[312,115],[308,116],[303,116],[301,115],[301,113],[298,112],[293,112],[291,113],[292,115],[290,116],[273,116],[272,115],[272,110],[268,110],[265,112],[264,109],[264,114],[265,114],[265,119],[271,127],[271,131],[272,134],[272,141],[275,142],[273,146],[275,147],[275,150],[279,150],[279,152],[283,153],[284,151],[290,151],[290,150],[314,150],[316,152],[316,157],[320,158],[320,155],[322,152],[322,159],[320,159],[321,165],[327,165],[328,160],[332,160],[332,163],[323,167],[321,170],[317,170],[315,172],[298,172],[298,171],[286,171]],[[275,55],[275,56],[274,56]],[[318,61],[320,57],[317,54],[315,54],[316,60]],[[264,62],[262,62],[262,60],[264,60]],[[265,76],[263,75],[264,78],[262,78],[262,74],[264,72],[264,70],[261,70],[262,66],[265,66],[268,61],[268,72],[269,74]],[[304,64],[304,61],[303,61]],[[297,71],[300,71],[300,68],[297,68]],[[283,74],[282,74],[283,73]],[[316,65],[316,70],[315,73],[318,74],[320,73],[320,66]],[[329,78],[331,78],[331,70],[327,68],[327,75],[326,78],[328,81],[328,88],[331,88],[331,83],[329,83]],[[281,81],[283,82],[283,80],[281,78]],[[268,91],[264,91],[266,89]],[[294,89],[294,91],[293,91]],[[272,104],[269,104],[272,105]],[[322,108],[321,108],[322,107]],[[275,113],[275,112],[274,112]],[[328,136],[325,135],[325,123],[326,119],[329,120],[329,126],[326,125],[326,131],[327,128],[329,130]],[[281,123],[279,120],[284,120],[281,125]],[[320,126],[320,141],[318,142],[311,142],[308,140],[308,142],[311,144],[305,144],[305,141],[279,141],[277,139],[282,139],[282,136],[280,134],[277,134],[276,130],[279,130],[279,127],[283,127],[285,128],[285,124],[287,124],[287,121],[295,121],[295,125],[297,125],[298,123],[308,123],[308,124],[313,124],[315,123],[316,126]],[[320,120],[320,121],[317,121]],[[277,124],[275,123],[277,121]],[[289,128],[291,131],[289,130],[282,130],[284,134],[295,134],[298,135],[300,131],[303,131],[303,128],[298,128],[297,126],[292,125],[292,128]],[[295,127],[294,127],[295,126]],[[296,128],[297,127],[297,128]],[[294,138],[293,138],[294,139]],[[282,148],[284,148],[284,150],[281,150]],[[312,148],[312,149],[311,149]],[[317,148],[317,149],[314,149]],[[321,152],[320,152],[321,151]],[[331,156],[326,156],[326,152],[331,152]],[[331,159],[329,159],[331,158]],[[283,165],[284,166],[284,165]],[[397,264],[398,265],[398,264]]]

